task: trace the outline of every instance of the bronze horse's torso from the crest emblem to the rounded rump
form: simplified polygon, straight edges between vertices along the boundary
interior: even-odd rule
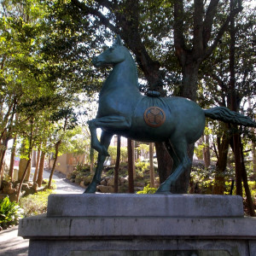
[[[195,102],[183,97],[144,96],[132,113],[128,137],[145,142],[184,138],[194,143],[204,125],[205,114]]]

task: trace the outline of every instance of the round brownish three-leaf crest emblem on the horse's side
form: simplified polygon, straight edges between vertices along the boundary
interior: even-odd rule
[[[158,107],[149,107],[144,112],[144,120],[151,127],[159,127],[166,121],[166,113]]]

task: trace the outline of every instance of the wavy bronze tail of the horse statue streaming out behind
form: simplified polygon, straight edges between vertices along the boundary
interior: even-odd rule
[[[235,125],[244,125],[250,127],[256,127],[256,122],[241,113],[231,111],[229,108],[216,107],[210,109],[203,109],[205,115],[210,119],[218,119],[225,123],[231,123]]]

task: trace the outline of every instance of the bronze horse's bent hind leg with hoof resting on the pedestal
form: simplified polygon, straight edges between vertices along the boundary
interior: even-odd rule
[[[157,193],[170,193],[170,191],[175,191],[174,186],[177,183],[178,178],[192,165],[191,160],[188,155],[188,143],[178,141],[172,142],[172,155],[176,155],[177,159],[174,160],[177,167],[173,170],[172,174],[167,177],[166,181],[160,184],[159,189],[157,189]],[[174,157],[175,159],[175,157]]]

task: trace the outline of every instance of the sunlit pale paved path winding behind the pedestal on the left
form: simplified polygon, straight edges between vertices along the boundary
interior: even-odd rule
[[[44,171],[44,178],[49,178],[49,172]],[[75,183],[70,183],[65,175],[56,173],[53,177],[57,185],[57,194],[81,194],[84,189]],[[0,231],[0,256],[27,256],[28,239],[18,236],[18,226]],[[35,255],[36,256],[36,255]]]

